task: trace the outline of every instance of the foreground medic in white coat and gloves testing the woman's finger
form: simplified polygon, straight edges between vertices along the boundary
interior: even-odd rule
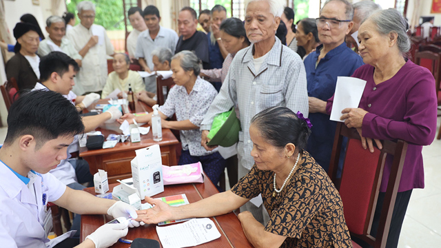
[[[83,121],[74,105],[57,92],[23,93],[12,104],[8,132],[0,149],[0,242],[3,245],[46,247],[52,227],[45,225],[52,224],[48,202],[77,214],[127,218],[126,223],[99,227],[77,247],[109,247],[127,235],[127,225],[140,225],[131,219],[137,216],[131,205],[70,189],[48,173],[67,158],[68,145],[83,131]]]

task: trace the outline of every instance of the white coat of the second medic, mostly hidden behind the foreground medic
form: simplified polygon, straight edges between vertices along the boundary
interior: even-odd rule
[[[33,90],[47,90],[49,91],[48,87],[45,85],[42,85],[41,83],[36,83]],[[75,105],[75,103],[72,101],[72,99],[76,99],[76,94],[72,92],[72,90],[67,95],[63,95],[66,99],[72,102],[72,104]],[[50,174],[54,175],[58,180],[61,181],[61,183],[64,183],[65,185],[69,185],[71,183],[76,183],[76,174],[75,169],[72,166],[71,163],[69,163],[70,153],[76,152],[79,149],[79,138],[78,135],[75,135],[74,141],[70,143],[68,147],[68,158],[63,159],[59,165],[57,165],[57,168],[51,169]]]

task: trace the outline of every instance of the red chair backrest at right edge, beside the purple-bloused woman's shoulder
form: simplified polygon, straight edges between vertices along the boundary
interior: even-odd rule
[[[430,50],[436,50],[436,45],[424,45],[422,49],[428,49],[422,52],[416,52],[415,63],[421,65],[424,68],[429,69],[433,78],[435,78],[435,90],[438,96],[438,91],[440,90],[441,81],[441,52],[431,52]],[[441,48],[440,48],[441,50]]]

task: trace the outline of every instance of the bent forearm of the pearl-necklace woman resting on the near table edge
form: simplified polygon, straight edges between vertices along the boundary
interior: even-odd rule
[[[247,240],[256,248],[280,247],[287,237],[265,231],[265,227],[258,222],[249,211],[238,214],[242,229]]]

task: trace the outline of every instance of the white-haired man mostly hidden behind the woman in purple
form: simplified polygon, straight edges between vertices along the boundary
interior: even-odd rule
[[[360,25],[362,21],[367,19],[373,12],[376,12],[377,10],[381,10],[381,6],[379,6],[377,3],[374,3],[370,0],[363,0],[359,1],[357,3],[353,3],[353,26],[349,34],[346,36],[347,43],[352,43],[352,45],[355,47],[355,51],[358,52],[358,41],[357,34],[358,34],[358,28],[360,28]]]

